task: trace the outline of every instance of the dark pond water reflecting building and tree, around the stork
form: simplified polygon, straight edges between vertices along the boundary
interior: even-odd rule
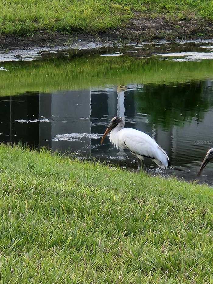
[[[126,127],[151,135],[167,152],[172,167],[161,170],[150,161],[151,173],[197,179],[207,149],[212,147],[213,81],[128,84],[54,93],[27,92],[0,98],[0,141],[75,152],[137,168],[134,156],[100,139],[114,115]],[[213,168],[199,182],[213,184]]]

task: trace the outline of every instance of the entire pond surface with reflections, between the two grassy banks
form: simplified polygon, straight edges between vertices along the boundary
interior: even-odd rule
[[[151,174],[213,184],[197,171],[213,147],[213,43],[16,51],[0,57],[0,141],[48,147],[127,169],[137,159],[100,139],[115,115],[151,135],[171,167]]]

